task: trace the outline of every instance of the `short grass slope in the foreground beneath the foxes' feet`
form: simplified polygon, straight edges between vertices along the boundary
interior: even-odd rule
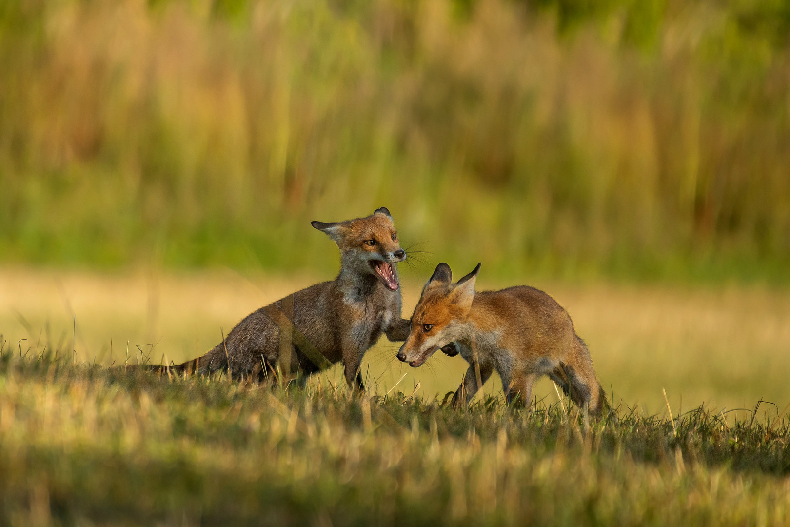
[[[790,415],[157,377],[0,354],[5,525],[788,525]],[[762,408],[754,408],[761,412]]]

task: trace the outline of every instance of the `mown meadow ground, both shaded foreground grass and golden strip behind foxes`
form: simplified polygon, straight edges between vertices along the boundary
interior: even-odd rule
[[[442,405],[463,359],[412,370],[386,339],[365,397],[340,367],[303,389],[137,368],[317,278],[4,269],[0,523],[790,525],[781,289],[537,284],[588,341],[600,420],[545,379],[529,411],[497,378]]]

